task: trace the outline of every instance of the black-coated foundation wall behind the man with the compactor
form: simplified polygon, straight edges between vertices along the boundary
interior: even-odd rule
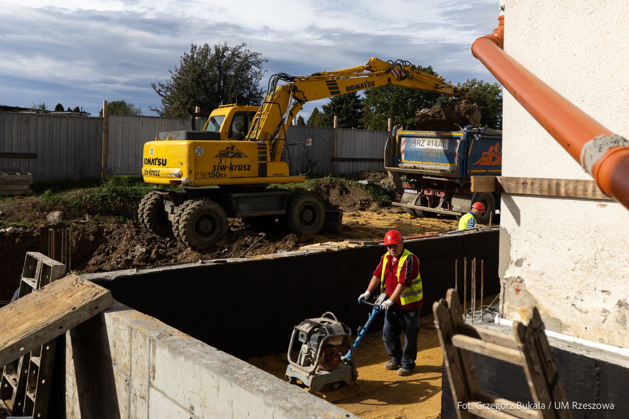
[[[498,230],[426,238],[407,242],[420,260],[424,306],[454,288],[455,259],[459,259],[459,290],[463,298],[463,261],[484,260],[485,295],[497,294]],[[315,252],[266,260],[219,264],[181,264],[103,274],[81,275],[108,288],[116,301],[159,318],[213,347],[241,359],[281,354],[288,349],[292,329],[306,318],[332,311],[352,328],[364,325],[370,307],[358,304],[383,246],[338,252]],[[468,286],[468,298],[470,286]],[[480,286],[477,294],[480,294]],[[370,331],[382,328],[378,316]]]

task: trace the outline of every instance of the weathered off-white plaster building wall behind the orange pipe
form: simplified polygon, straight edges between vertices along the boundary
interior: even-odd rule
[[[504,50],[629,137],[629,3],[503,4]],[[506,91],[503,110],[503,176],[591,179]],[[534,301],[553,330],[629,347],[629,211],[614,201],[513,194],[501,211],[499,274],[515,279],[503,281],[504,315],[520,320]]]

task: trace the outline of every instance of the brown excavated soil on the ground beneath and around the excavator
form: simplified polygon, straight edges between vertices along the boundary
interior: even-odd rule
[[[376,172],[377,173],[377,172]],[[368,175],[374,179],[374,172]],[[382,180],[386,174],[381,175]],[[343,231],[341,235],[322,233],[315,236],[298,237],[282,232],[278,228],[255,245],[247,256],[276,254],[281,251],[298,250],[300,246],[345,238],[382,238],[392,228],[404,236],[422,235],[426,232],[447,232],[454,230],[457,221],[452,216],[438,218],[411,218],[404,210],[396,207],[383,207],[374,201],[360,185],[351,182],[316,181],[313,191],[328,210],[343,211]],[[72,191],[72,193],[78,193]],[[225,237],[207,252],[194,252],[178,243],[174,237],[157,237],[144,230],[134,217],[121,222],[113,216],[103,216],[99,221],[86,215],[75,216],[69,221],[45,221],[46,214],[39,208],[39,198],[20,197],[0,201],[0,220],[6,222],[31,221],[30,229],[9,227],[0,229],[0,301],[8,301],[17,288],[26,252],[40,252],[53,259],[61,259],[62,230],[69,232],[72,249],[63,262],[75,273],[105,272],[120,269],[164,265],[197,260],[224,259],[238,257],[255,240],[259,231],[246,228],[238,220],[230,220],[230,229]],[[133,216],[134,205],[127,204],[116,211],[118,215]],[[67,210],[67,204],[59,203],[55,210]],[[120,220],[120,218],[118,218]],[[55,253],[48,243],[53,230]]]

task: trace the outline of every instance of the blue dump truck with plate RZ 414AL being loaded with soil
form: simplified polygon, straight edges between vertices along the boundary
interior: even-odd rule
[[[393,205],[411,215],[461,216],[481,202],[486,213],[478,221],[487,224],[491,213],[494,221],[500,212],[499,194],[473,191],[472,176],[475,184],[482,176],[500,176],[502,131],[471,125],[447,132],[395,130],[387,140],[384,167],[405,175],[401,202]]]

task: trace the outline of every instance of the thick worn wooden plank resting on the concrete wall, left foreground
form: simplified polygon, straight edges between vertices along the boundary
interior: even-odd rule
[[[107,289],[66,276],[0,308],[0,365],[62,335],[111,304],[113,297]]]

